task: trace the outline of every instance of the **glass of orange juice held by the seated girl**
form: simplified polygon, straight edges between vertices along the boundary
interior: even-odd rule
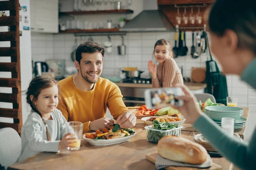
[[[79,150],[81,145],[81,137],[83,133],[83,123],[82,122],[67,122],[67,133],[71,133],[73,137],[76,136],[76,143],[73,143],[73,147],[68,147],[68,150]]]

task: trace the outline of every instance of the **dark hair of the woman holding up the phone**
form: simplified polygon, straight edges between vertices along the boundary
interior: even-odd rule
[[[256,54],[256,0],[216,0],[209,11],[209,30],[223,36],[236,32],[240,48]]]

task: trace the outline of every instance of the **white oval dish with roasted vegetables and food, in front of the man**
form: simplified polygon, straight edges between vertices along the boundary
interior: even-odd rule
[[[85,133],[83,138],[92,145],[105,146],[127,142],[135,134],[134,129],[121,129],[118,124],[115,124],[110,130],[104,127],[102,130],[96,130],[95,133]]]

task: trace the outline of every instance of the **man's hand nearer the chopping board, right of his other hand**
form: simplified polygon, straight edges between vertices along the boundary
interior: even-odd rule
[[[127,111],[125,113],[122,113],[116,120],[116,123],[120,125],[120,127],[123,128],[130,128],[134,127],[136,125],[136,116],[134,113],[131,113],[130,111]]]

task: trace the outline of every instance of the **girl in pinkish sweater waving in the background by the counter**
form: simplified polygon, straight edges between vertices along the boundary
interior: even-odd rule
[[[167,88],[173,85],[183,85],[180,69],[173,59],[171,43],[166,39],[158,40],[154,45],[154,57],[159,63],[148,61],[148,71],[151,74],[153,88]]]

